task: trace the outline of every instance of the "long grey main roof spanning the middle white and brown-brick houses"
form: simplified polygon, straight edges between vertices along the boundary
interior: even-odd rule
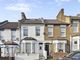
[[[19,22],[22,24],[69,24],[56,19],[26,19],[19,20]]]

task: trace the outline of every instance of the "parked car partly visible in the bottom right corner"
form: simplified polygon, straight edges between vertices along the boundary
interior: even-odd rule
[[[58,60],[80,60],[80,51],[74,51]]]

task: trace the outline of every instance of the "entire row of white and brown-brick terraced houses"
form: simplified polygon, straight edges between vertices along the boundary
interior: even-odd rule
[[[56,19],[31,19],[21,13],[18,22],[0,23],[1,57],[35,60],[52,57],[56,60],[71,51],[80,50],[80,14]]]

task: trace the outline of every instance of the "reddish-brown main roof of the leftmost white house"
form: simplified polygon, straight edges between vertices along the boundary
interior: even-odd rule
[[[0,29],[16,29],[18,27],[18,22],[4,22],[0,25]]]

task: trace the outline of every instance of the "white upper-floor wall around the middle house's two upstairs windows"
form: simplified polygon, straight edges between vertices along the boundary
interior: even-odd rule
[[[36,36],[35,27],[40,26],[40,36]],[[39,41],[44,41],[44,25],[40,24],[32,24],[32,25],[21,25],[21,39],[26,36],[23,36],[23,27],[28,27],[28,37],[33,37]]]

